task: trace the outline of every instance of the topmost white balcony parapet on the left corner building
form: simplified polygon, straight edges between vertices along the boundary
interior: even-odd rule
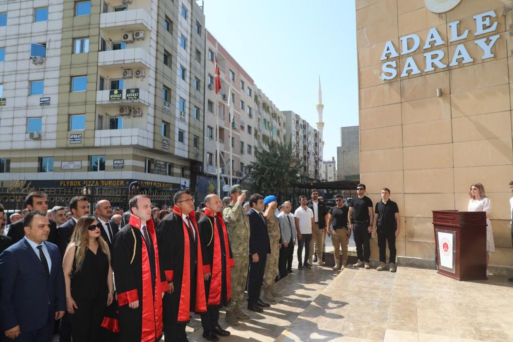
[[[151,15],[142,8],[100,14],[100,28],[108,34],[151,30]]]

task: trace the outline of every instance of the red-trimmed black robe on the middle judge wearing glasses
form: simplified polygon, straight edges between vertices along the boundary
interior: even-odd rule
[[[166,292],[163,299],[164,322],[170,325],[186,324],[191,311],[207,311],[203,274],[204,270],[208,270],[208,265],[204,269],[194,212],[188,216],[196,231],[195,241],[176,205],[173,212],[157,226],[161,268],[167,282],[172,282],[174,286],[173,293]]]

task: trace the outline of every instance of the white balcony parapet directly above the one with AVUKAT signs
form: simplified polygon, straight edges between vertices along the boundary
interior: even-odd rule
[[[151,55],[144,48],[130,48],[98,52],[98,66],[124,69],[151,68]],[[153,57],[155,59],[155,57]]]

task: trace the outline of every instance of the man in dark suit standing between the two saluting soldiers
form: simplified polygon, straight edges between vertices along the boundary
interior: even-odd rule
[[[262,211],[264,197],[253,194],[249,198],[251,209],[249,216],[249,274],[248,274],[248,310],[262,312],[260,307],[269,307],[260,299],[262,281],[264,280],[265,263],[271,253],[267,223]]]

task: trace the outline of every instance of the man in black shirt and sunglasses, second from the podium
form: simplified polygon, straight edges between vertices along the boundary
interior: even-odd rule
[[[356,253],[358,262],[353,264],[354,268],[362,267],[370,269],[370,233],[372,232],[372,201],[365,196],[365,184],[358,184],[356,187],[358,197],[354,197],[349,206],[349,229],[354,233],[354,242],[356,243]],[[352,218],[351,218],[352,216]]]

